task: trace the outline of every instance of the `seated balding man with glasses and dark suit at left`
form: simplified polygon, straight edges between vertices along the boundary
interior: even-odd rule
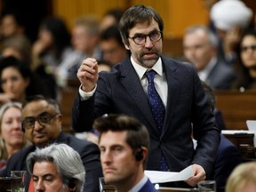
[[[22,105],[21,124],[26,138],[33,145],[22,148],[13,154],[6,169],[0,172],[0,176],[10,176],[12,170],[27,171],[26,157],[30,152],[40,150],[52,143],[65,143],[74,148],[82,158],[86,172],[84,190],[86,192],[100,191],[99,177],[102,177],[100,150],[92,142],[79,140],[75,136],[61,131],[60,107],[56,100],[40,95],[28,98]],[[33,188],[33,182],[29,175],[25,183],[26,191],[30,191]]]

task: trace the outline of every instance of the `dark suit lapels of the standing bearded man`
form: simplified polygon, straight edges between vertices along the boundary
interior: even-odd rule
[[[177,100],[179,99],[180,76],[177,72],[177,68],[172,64],[172,60],[162,57],[162,61],[168,82],[167,110],[165,111],[164,127],[161,134],[163,136],[164,132],[167,131],[168,127],[170,127],[170,124],[172,123],[173,111]],[[130,93],[132,100],[138,106],[138,110],[140,110],[141,114],[148,120],[148,124],[151,124],[152,127],[154,127],[154,130],[158,132],[154,116],[152,115],[151,109],[148,105],[147,94],[144,92],[140,84],[140,79],[135,69],[132,67],[130,58],[120,65],[120,73],[122,76],[121,84],[124,84],[124,88]]]

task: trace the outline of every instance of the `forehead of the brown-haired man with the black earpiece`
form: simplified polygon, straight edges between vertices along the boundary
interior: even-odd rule
[[[101,147],[111,147],[114,145],[127,145],[126,143],[126,131],[122,131],[122,132],[112,132],[112,131],[108,131],[108,132],[103,132],[100,135],[100,146]]]

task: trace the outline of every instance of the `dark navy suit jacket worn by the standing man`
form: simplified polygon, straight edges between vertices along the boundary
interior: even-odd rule
[[[139,76],[130,58],[111,72],[100,72],[96,92],[89,100],[77,94],[72,107],[72,128],[76,132],[92,129],[92,123],[104,114],[126,114],[145,124],[150,134],[147,170],[159,170],[161,151],[172,172],[180,172],[190,164],[200,164],[206,174],[212,171],[220,130],[215,125],[201,81],[192,65],[162,56],[168,84],[164,127],[161,133],[148,105]],[[191,140],[193,124],[198,148]]]

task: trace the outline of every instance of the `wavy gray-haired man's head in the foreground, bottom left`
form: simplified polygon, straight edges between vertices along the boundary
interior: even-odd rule
[[[26,162],[35,191],[83,191],[84,164],[78,152],[67,144],[36,150],[28,155]]]

